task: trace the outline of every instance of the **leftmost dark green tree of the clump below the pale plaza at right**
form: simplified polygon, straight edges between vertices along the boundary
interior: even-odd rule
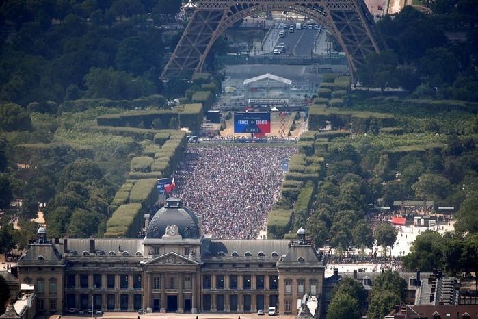
[[[410,271],[419,269],[430,272],[434,269],[442,269],[443,238],[436,231],[425,231],[416,236],[410,253],[403,259],[403,264]]]

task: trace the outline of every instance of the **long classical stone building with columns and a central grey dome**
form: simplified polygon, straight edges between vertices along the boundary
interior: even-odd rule
[[[143,239],[53,238],[38,230],[18,261],[20,283],[35,287],[37,310],[250,312],[297,314],[304,294],[319,301],[324,262],[306,241],[220,240],[168,199]]]

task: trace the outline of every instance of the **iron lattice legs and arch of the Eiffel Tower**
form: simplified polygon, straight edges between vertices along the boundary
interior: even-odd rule
[[[341,44],[351,71],[382,47],[364,0],[200,0],[161,78],[184,78],[201,72],[215,40],[228,27],[268,11],[302,14],[328,29]]]

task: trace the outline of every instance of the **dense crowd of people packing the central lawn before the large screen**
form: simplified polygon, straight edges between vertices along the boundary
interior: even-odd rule
[[[174,175],[174,196],[202,215],[204,233],[257,238],[280,198],[281,160],[294,153],[295,147],[189,147]]]

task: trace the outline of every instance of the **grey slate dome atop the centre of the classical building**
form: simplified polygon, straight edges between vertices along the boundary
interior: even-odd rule
[[[183,207],[181,199],[170,198],[164,207],[159,209],[152,218],[146,231],[146,238],[162,238],[166,227],[178,227],[178,235],[183,238],[199,238],[199,222],[196,215]]]

